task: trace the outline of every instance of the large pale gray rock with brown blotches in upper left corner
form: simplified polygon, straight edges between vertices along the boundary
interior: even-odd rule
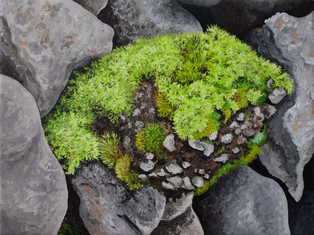
[[[113,29],[73,1],[2,0],[0,73],[34,96],[41,117],[56,104],[72,69],[111,52]]]

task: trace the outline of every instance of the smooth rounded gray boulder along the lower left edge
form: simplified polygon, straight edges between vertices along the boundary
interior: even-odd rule
[[[0,75],[0,233],[57,234],[68,207],[64,172],[33,96]]]

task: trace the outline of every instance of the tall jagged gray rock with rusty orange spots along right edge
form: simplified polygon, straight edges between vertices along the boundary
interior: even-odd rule
[[[265,21],[247,36],[258,53],[279,61],[295,80],[295,93],[285,97],[268,121],[268,141],[260,160],[270,174],[286,183],[299,201],[303,168],[314,151],[314,12],[303,18],[286,13]]]

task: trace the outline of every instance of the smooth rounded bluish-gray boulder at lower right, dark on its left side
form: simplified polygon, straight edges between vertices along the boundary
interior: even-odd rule
[[[290,234],[284,191],[248,166],[220,178],[198,207],[206,234]]]

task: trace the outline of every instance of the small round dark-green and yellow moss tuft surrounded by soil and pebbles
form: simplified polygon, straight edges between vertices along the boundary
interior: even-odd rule
[[[136,135],[136,147],[146,153],[152,152],[162,158],[167,132],[157,123],[151,123]]]

